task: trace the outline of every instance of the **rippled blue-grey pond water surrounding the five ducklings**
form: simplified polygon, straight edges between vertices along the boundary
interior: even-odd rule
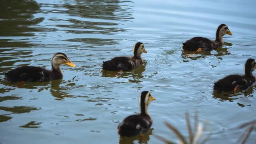
[[[228,1],[86,1],[4,0],[0,6],[0,143],[119,143],[117,126],[139,112],[143,90],[156,98],[149,106],[152,130],[142,143],[161,143],[153,134],[178,142],[170,122],[188,136],[184,113],[199,112],[214,133],[208,143],[236,143],[244,130],[230,130],[256,117],[255,86],[223,97],[213,82],[243,74],[256,51],[256,2]],[[233,36],[204,54],[183,54],[182,42],[215,38],[218,25]],[[143,42],[144,66],[102,74],[102,61],[132,55]],[[76,68],[61,66],[62,80],[42,83],[3,81],[18,66],[51,68],[51,58],[64,52]],[[255,142],[252,132],[248,143]],[[126,144],[138,138],[120,143]]]

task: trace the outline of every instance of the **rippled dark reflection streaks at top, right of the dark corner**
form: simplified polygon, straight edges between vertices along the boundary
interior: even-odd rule
[[[131,1],[99,0],[92,2],[90,0],[74,0],[74,3],[42,4],[42,7],[53,8],[47,10],[48,12],[68,14],[74,18],[80,17],[80,19],[50,19],[59,23],[54,26],[65,28],[63,30],[69,34],[112,34],[115,32],[125,32],[125,29],[118,27],[121,23],[117,23],[116,21],[130,21],[134,19],[132,17],[131,6],[127,5],[127,3],[132,3]],[[98,40],[116,41],[115,39],[104,40],[98,38],[74,38],[68,39],[67,41],[98,43]]]

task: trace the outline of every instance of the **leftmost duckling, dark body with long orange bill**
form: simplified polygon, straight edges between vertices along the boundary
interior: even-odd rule
[[[45,82],[50,80],[57,80],[63,77],[60,69],[60,64],[76,67],[66,54],[57,53],[52,58],[52,70],[36,66],[22,66],[5,72],[4,80],[10,82]]]

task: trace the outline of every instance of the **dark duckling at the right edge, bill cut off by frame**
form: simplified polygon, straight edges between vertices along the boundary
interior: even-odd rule
[[[245,64],[245,75],[229,75],[225,78],[218,80],[218,82],[214,83],[213,89],[220,92],[236,92],[238,90],[246,90],[249,86],[251,86],[255,82],[255,77],[252,75],[252,72],[256,68],[255,60],[250,58],[246,61]]]

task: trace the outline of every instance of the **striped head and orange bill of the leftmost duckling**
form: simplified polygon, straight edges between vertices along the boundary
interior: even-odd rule
[[[76,65],[68,59],[66,54],[59,52],[52,57],[52,68],[54,70],[59,70],[61,64],[76,67]]]

